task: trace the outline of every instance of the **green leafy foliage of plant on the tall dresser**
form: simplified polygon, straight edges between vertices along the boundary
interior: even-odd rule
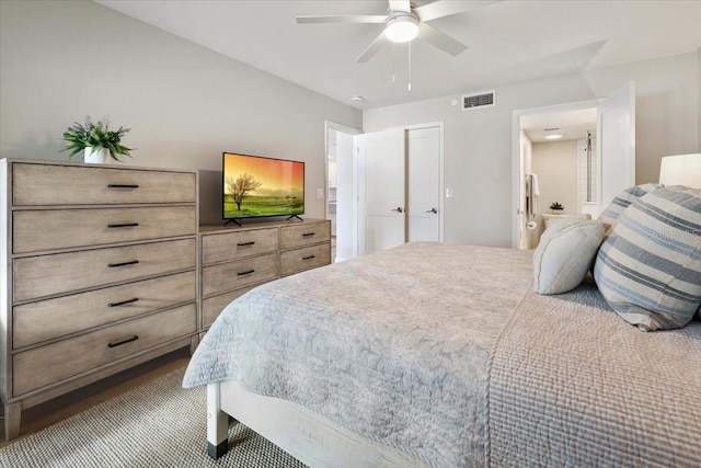
[[[62,139],[67,145],[61,151],[70,151],[68,159],[72,159],[73,156],[84,151],[85,148],[92,148],[93,151],[105,148],[110,151],[112,159],[122,161],[124,156],[130,158],[129,151],[134,150],[134,148],[127,148],[122,145],[122,137],[129,130],[130,128],[124,127],[111,130],[107,117],[93,123],[90,115],[88,115],[84,124],[74,122],[64,133]]]

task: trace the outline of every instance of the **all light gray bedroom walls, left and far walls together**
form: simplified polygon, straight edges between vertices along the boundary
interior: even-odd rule
[[[323,217],[324,119],[366,132],[444,122],[446,240],[510,246],[514,110],[606,96],[634,79],[637,181],[654,181],[662,156],[701,150],[700,60],[499,87],[497,105],[479,111],[451,95],[361,114],[93,2],[0,1],[0,157],[66,160],[66,127],[108,114],[133,128],[129,164],[200,170],[203,221],[220,219],[223,150],[306,161],[307,214]]]

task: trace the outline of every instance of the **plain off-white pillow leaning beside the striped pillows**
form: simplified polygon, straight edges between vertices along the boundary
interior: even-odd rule
[[[533,254],[533,288],[562,294],[577,287],[591,267],[604,239],[597,221],[563,219],[545,229]]]

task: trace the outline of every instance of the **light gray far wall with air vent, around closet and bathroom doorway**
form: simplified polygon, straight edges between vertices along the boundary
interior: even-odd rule
[[[496,88],[496,105],[462,111],[449,95],[364,112],[365,132],[444,122],[445,239],[512,244],[512,114],[515,110],[607,96],[636,85],[636,180],[656,181],[659,159],[699,146],[699,54],[611,67]],[[466,93],[489,90],[464,90]]]

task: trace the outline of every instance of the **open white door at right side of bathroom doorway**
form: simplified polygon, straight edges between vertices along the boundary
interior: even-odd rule
[[[629,81],[597,105],[598,208],[635,185],[635,82]]]

